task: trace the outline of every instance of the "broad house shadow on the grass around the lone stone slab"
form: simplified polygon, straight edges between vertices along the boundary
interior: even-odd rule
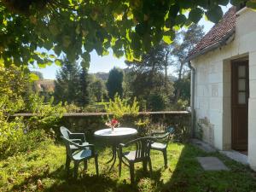
[[[196,157],[215,156],[222,160],[230,171],[204,171]],[[240,170],[240,172],[237,172]],[[187,144],[177,160],[175,169],[170,170],[170,179],[159,185],[155,192],[252,192],[256,191],[256,180],[252,170],[230,160],[222,154],[206,153]]]

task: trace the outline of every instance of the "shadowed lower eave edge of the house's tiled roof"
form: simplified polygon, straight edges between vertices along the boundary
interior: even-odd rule
[[[213,49],[217,49],[217,48],[219,48],[219,47],[225,45],[225,44],[227,43],[227,41],[231,38],[231,36],[232,36],[233,34],[235,34],[235,32],[236,32],[236,29],[233,28],[232,30],[230,30],[230,32],[228,32],[228,33],[224,36],[224,38],[223,38],[220,42],[218,42],[217,44],[212,44],[212,45],[211,45],[210,47],[208,47],[207,49],[202,49],[201,51],[199,51],[199,52],[196,53],[195,55],[191,55],[191,56],[187,57],[184,62],[191,61],[191,60],[195,59],[195,57],[198,57],[198,56],[203,55],[203,54],[205,54],[205,53],[207,53],[207,52],[209,52],[209,51],[212,51]]]

